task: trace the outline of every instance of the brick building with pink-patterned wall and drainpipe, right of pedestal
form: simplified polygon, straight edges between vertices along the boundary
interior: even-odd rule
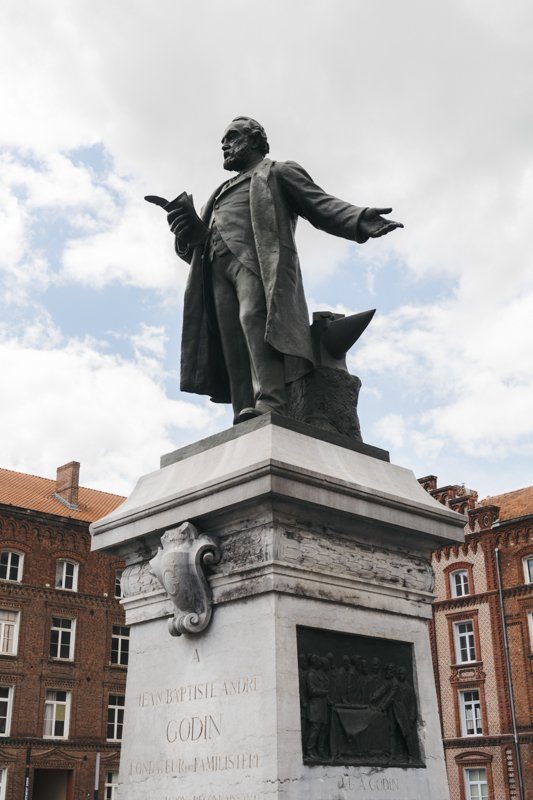
[[[533,487],[478,503],[421,484],[468,516],[433,558],[432,647],[452,800],[533,800]]]

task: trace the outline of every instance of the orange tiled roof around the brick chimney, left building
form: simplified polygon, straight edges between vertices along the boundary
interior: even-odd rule
[[[3,505],[93,522],[105,517],[125,499],[118,494],[80,486],[78,507],[72,509],[54,497],[55,490],[56,482],[51,478],[0,468],[0,503]]]

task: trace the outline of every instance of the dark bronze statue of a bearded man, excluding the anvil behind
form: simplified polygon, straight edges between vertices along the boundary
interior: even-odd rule
[[[183,194],[167,208],[176,252],[190,265],[183,310],[181,389],[231,402],[234,423],[287,413],[286,384],[313,369],[309,316],[294,241],[298,217],[359,243],[400,223],[392,209],[326,194],[293,161],[267,158],[262,126],[236,117],[222,137],[236,177],[199,217]]]

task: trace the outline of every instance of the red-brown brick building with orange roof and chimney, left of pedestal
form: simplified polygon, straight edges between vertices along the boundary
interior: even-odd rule
[[[100,798],[115,793],[122,564],[90,552],[89,523],[123,498],[78,476],[77,462],[55,481],[0,469],[0,800],[87,800],[98,762]]]

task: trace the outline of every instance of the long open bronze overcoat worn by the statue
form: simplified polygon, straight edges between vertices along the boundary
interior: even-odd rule
[[[209,225],[217,194],[202,211]],[[326,194],[299,164],[263,159],[250,181],[250,213],[267,306],[266,341],[285,356],[290,382],[313,366],[309,315],[294,232],[298,216],[334,236],[362,242],[359,217],[364,208]],[[223,232],[222,232],[223,233]],[[231,249],[231,243],[228,243]],[[210,264],[202,247],[178,254],[191,264],[183,309],[181,389],[231,402],[228,375],[211,291]]]

